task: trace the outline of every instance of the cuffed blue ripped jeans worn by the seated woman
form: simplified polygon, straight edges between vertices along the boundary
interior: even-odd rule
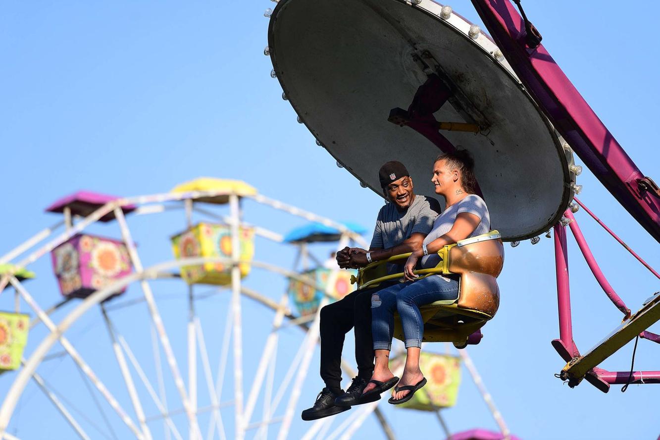
[[[372,334],[375,350],[389,350],[394,333],[394,312],[399,312],[406,348],[421,347],[424,321],[419,306],[456,299],[458,281],[430,275],[419,281],[399,283],[372,295]]]

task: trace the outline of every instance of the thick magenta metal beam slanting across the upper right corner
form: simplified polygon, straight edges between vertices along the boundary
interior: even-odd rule
[[[527,45],[509,0],[472,0],[502,54],[550,122],[612,196],[660,242],[660,196],[542,44]]]

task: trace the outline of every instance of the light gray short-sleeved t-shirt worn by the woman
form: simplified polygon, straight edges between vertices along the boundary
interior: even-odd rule
[[[486,202],[477,194],[469,194],[461,202],[454,203],[445,211],[438,215],[436,221],[433,222],[433,230],[424,238],[423,244],[429,244],[436,238],[442,237],[453,227],[456,221],[456,216],[462,212],[474,214],[481,219],[477,229],[470,234],[470,237],[477,237],[490,231],[490,214]],[[468,238],[470,238],[468,237]],[[438,254],[431,254],[422,257],[422,268],[433,268],[440,263],[440,256]]]

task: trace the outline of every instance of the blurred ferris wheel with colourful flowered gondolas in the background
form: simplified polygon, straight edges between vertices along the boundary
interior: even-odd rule
[[[248,201],[309,223],[282,236],[245,220]],[[223,212],[226,205],[228,213]],[[0,316],[9,340],[3,344],[2,367],[3,371],[18,370],[0,377],[11,381],[0,408],[3,438],[20,438],[21,432],[26,438],[41,436],[52,429],[64,433],[67,431],[60,430],[65,423],[69,434],[64,435],[81,439],[312,439],[326,435],[331,426],[341,438],[350,438],[370,414],[376,416],[385,437],[395,438],[378,402],[350,416],[312,425],[303,425],[296,417],[317,343],[318,311],[353,288],[350,272],[323,264],[310,244],[364,245],[360,235],[364,229],[358,225],[338,223],[271,200],[243,182],[209,178],[154,196],[112,198],[78,192],[53,203],[48,211],[61,213],[63,220],[2,257],[3,262],[16,260],[1,266],[3,287],[15,290],[13,299],[3,295],[4,308],[13,306],[13,311]],[[135,244],[141,237],[133,234],[129,224],[147,216],[150,229],[155,229],[158,219],[172,211],[186,225],[185,231],[171,237],[176,259],[145,267]],[[199,222],[193,224],[193,219]],[[98,222],[114,223],[121,238],[91,233]],[[60,229],[64,231],[57,234]],[[280,251],[294,248],[293,267],[259,260],[262,242],[270,242]],[[59,288],[63,298],[53,305],[38,301],[48,295],[31,293],[29,281],[35,274],[25,269],[48,259],[55,275],[51,285]],[[281,277],[286,289],[280,295],[257,291],[249,282],[250,274],[257,271],[265,272],[269,279]],[[174,308],[163,305],[168,295],[172,300],[172,285],[178,303]],[[213,297],[224,299],[212,307],[208,299]],[[13,304],[7,307],[8,302]],[[21,313],[25,307],[33,314],[32,321]],[[104,328],[108,340],[96,340],[90,351],[77,342],[72,329],[97,307],[100,316],[92,316],[90,322],[97,329]],[[133,318],[135,309],[146,309],[143,319]],[[55,322],[54,316],[61,314],[63,318]],[[129,314],[128,320],[122,319],[124,314]],[[209,314],[217,318],[209,322]],[[166,324],[172,322],[172,315],[178,315],[178,328]],[[40,328],[46,331],[40,334]],[[90,327],[85,331],[90,332]],[[147,336],[135,338],[136,333]],[[177,334],[185,334],[185,338]],[[215,362],[209,353],[217,355]],[[64,386],[51,379],[56,378],[53,359],[63,357],[71,360],[66,374],[72,377]],[[479,374],[467,352],[461,351],[461,357],[479,385]],[[438,379],[432,379],[436,385],[410,406],[434,412],[447,437],[449,430],[440,409],[455,401],[458,359],[444,353],[426,360],[436,371]],[[349,376],[354,374],[350,363],[343,362],[343,369]],[[93,409],[98,410],[96,416],[81,397],[81,382],[88,388]],[[48,406],[35,404],[40,418],[50,418],[45,409],[49,408],[61,423],[34,430],[34,426],[27,428],[16,421],[17,406],[30,412],[32,400],[25,394],[34,385],[49,401]],[[485,389],[482,394],[508,436]]]

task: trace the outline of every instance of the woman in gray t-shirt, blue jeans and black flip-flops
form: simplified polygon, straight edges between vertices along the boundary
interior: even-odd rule
[[[437,266],[440,262],[437,252],[443,246],[490,231],[488,207],[482,198],[475,194],[477,180],[473,169],[474,161],[467,151],[440,155],[434,163],[431,182],[435,186],[436,194],[445,199],[446,208],[434,221],[433,229],[424,239],[422,247],[414,250],[408,258],[404,268],[406,282],[372,295],[372,332],[376,365],[372,381],[364,388],[364,394],[380,394],[397,383],[397,378],[389,370],[389,351],[396,311],[399,312],[403,324],[407,357],[403,375],[398,386],[394,388],[389,403],[407,402],[416,390],[426,385],[426,379],[419,368],[424,332],[419,306],[456,299],[459,283],[458,279],[451,275],[430,275],[415,281],[418,275],[414,275],[413,270],[420,258],[423,268]]]

